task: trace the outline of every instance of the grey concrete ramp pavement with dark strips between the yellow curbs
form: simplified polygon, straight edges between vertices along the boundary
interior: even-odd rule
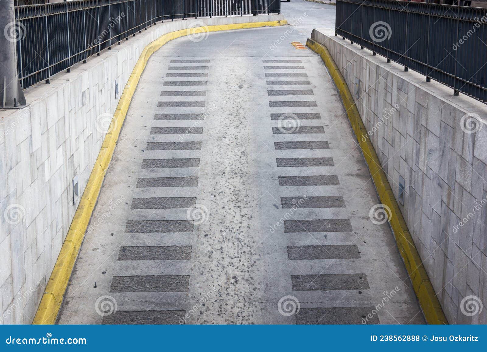
[[[150,58],[59,323],[424,322],[335,86],[291,45],[332,10]]]

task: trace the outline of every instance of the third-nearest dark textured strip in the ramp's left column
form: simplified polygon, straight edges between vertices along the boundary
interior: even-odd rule
[[[120,247],[118,260],[189,260],[191,249],[191,246]]]

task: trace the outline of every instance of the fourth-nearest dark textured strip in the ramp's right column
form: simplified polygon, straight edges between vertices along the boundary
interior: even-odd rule
[[[348,219],[284,220],[284,232],[351,232]]]

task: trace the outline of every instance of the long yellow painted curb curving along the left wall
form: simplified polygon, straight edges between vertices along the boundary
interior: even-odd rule
[[[167,33],[149,45],[147,45],[140,55],[132,74],[129,77],[127,84],[120,96],[117,108],[113,115],[112,123],[109,132],[106,134],[103,144],[96,159],[93,171],[88,179],[85,191],[81,197],[79,205],[76,209],[75,216],[71,222],[68,234],[57,257],[53,272],[47,283],[44,294],[41,298],[39,307],[37,308],[36,316],[33,324],[54,324],[56,323],[57,314],[61,308],[62,299],[68,286],[71,272],[75,265],[75,260],[78,255],[81,243],[85,236],[88,222],[93,213],[94,205],[100,192],[101,184],[105,178],[105,173],[108,169],[110,161],[112,160],[113,151],[120,134],[125,116],[129,110],[129,105],[132,100],[135,88],[139,83],[140,76],[144,71],[147,61],[150,56],[169,40],[187,36],[190,34],[201,34],[206,32],[227,31],[232,29],[257,28],[266,26],[281,26],[287,24],[286,20],[281,21],[267,21],[267,22],[251,22],[251,23],[236,23],[236,24],[222,24],[215,26],[193,27],[183,29],[180,31]]]

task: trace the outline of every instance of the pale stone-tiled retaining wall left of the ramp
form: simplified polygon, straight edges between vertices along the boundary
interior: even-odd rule
[[[144,47],[189,26],[276,21],[282,15],[157,24],[69,74],[26,92],[30,105],[0,111],[0,321],[30,323],[75,214],[120,94]],[[118,85],[118,94],[115,86]]]

